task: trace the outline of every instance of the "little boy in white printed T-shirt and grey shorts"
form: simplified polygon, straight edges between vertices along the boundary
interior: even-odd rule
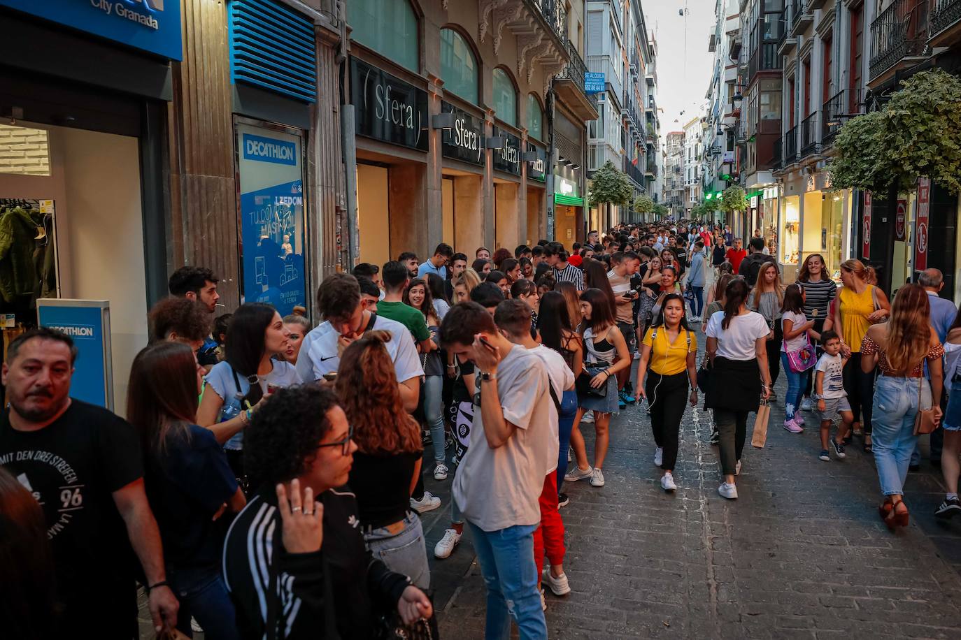
[[[833,331],[825,331],[821,334],[821,344],[825,352],[814,367],[814,391],[812,396],[818,401],[818,417],[821,419],[821,460],[828,462],[830,454],[828,452],[828,437],[830,436],[831,422],[835,414],[841,415],[841,426],[833,439],[830,439],[831,448],[838,458],[845,458],[844,441],[848,435],[854,415],[850,411],[848,394],[844,391],[842,371],[848,364],[848,358],[841,358],[841,338]]]

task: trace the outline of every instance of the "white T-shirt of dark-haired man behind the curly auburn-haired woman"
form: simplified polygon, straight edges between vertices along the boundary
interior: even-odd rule
[[[417,347],[406,326],[397,320],[378,316],[371,328],[389,331],[393,336],[385,346],[390,360],[394,363],[397,382],[424,375],[424,367],[421,367],[420,358],[417,356]],[[305,352],[302,345],[300,357],[297,358],[297,370],[307,374],[306,377],[303,374],[301,376],[305,382],[320,380],[325,373],[336,371],[340,366],[340,356],[337,355],[337,339],[340,334],[330,321],[325,321],[308,333],[304,338],[305,342],[315,333],[316,337],[311,339],[308,351]]]

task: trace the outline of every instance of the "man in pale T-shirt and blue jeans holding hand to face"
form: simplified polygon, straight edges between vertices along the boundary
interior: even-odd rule
[[[485,637],[507,640],[513,617],[522,638],[546,640],[533,557],[533,533],[541,521],[538,497],[556,464],[548,453],[557,451],[546,367],[537,355],[511,344],[476,302],[461,302],[448,312],[440,340],[472,361],[480,380],[471,443],[453,492],[487,584]]]

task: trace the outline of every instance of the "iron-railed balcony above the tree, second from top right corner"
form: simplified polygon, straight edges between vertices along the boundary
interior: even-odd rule
[[[929,0],[895,0],[871,23],[870,83],[922,57],[927,43]]]

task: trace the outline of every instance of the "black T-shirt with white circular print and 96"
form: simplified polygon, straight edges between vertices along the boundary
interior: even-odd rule
[[[102,634],[107,621],[97,611],[103,613],[108,610],[105,607],[128,599],[135,604],[136,616],[136,565],[111,495],[143,476],[135,429],[106,409],[75,399],[63,415],[39,431],[15,431],[4,412],[0,415],[0,465],[34,495],[43,510],[65,607],[62,624],[78,637],[86,630]],[[97,608],[85,611],[90,604]],[[126,628],[122,613],[111,611],[108,617]],[[94,616],[99,623],[90,620]],[[89,628],[90,622],[99,627]]]

